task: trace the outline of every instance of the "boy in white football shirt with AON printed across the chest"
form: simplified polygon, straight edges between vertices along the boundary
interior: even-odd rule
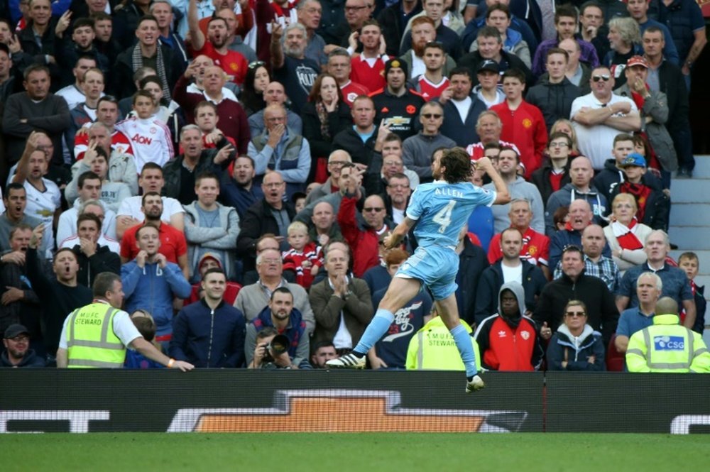
[[[154,110],[155,101],[151,93],[138,90],[133,95],[133,111],[136,116],[116,124],[116,129],[131,140],[139,174],[146,163],[156,163],[163,167],[173,158],[170,130],[162,121],[153,117]]]

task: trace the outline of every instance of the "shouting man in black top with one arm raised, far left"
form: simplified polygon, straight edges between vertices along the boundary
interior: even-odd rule
[[[47,350],[48,366],[53,366],[62,333],[62,323],[67,313],[91,303],[92,292],[88,287],[77,282],[79,263],[77,256],[69,248],[61,248],[55,253],[53,260],[55,278],[50,279],[45,275],[37,254],[44,231],[44,226],[41,224],[32,231],[25,267],[33,290],[35,293],[42,294],[42,335]]]

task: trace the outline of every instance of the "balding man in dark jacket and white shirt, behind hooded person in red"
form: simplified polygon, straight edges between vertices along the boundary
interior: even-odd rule
[[[515,228],[508,228],[501,233],[501,251],[503,257],[484,270],[478,284],[476,293],[476,324],[480,324],[486,317],[496,313],[496,299],[493,294],[498,293],[504,283],[522,281],[523,294],[525,295],[525,308],[523,312],[530,314],[535,309],[537,297],[547,280],[542,270],[537,265],[532,265],[527,260],[520,259],[523,248],[523,235]]]

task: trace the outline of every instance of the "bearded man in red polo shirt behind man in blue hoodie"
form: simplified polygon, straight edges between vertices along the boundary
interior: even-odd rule
[[[187,279],[190,274],[190,268],[187,263],[187,241],[185,241],[185,235],[182,231],[160,221],[160,215],[163,214],[163,200],[160,199],[158,192],[148,192],[143,194],[142,198],[143,206],[141,211],[146,216],[146,219],[143,223],[138,223],[136,226],[127,229],[124,233],[124,237],[121,239],[121,263],[125,264],[129,260],[136,258],[140,252],[140,249],[136,246],[138,231],[143,226],[153,226],[158,229],[158,234],[160,235],[160,253],[165,256],[169,263],[180,265],[182,273]],[[156,251],[158,251],[158,248],[156,248]],[[185,297],[187,295],[182,298]]]

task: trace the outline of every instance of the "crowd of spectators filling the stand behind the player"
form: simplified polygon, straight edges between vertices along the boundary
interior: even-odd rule
[[[457,246],[481,368],[602,370],[661,297],[701,332],[699,258],[667,236],[701,11],[555,3],[3,2],[0,365],[54,366],[111,272],[178,361],[324,368],[417,247],[383,238],[454,146],[512,197]],[[442,326],[420,293],[368,366],[463,369]]]

